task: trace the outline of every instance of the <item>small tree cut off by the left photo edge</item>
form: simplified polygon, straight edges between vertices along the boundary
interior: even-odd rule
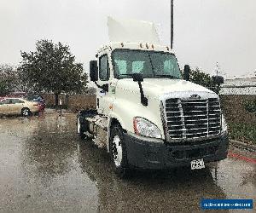
[[[19,87],[19,78],[14,66],[0,65],[0,95],[8,95]]]

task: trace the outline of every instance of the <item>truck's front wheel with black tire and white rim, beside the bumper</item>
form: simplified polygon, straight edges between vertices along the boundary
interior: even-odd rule
[[[119,147],[117,148],[117,138],[119,138]],[[110,156],[115,167],[115,173],[120,178],[126,178],[129,176],[129,166],[127,161],[127,150],[125,147],[124,134],[119,124],[114,124],[110,133]],[[118,158],[118,150],[121,148],[122,152],[119,154],[121,160]]]

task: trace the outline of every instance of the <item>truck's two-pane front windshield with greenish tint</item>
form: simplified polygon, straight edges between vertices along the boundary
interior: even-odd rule
[[[112,54],[116,78],[132,78],[142,73],[143,78],[181,78],[175,55],[165,52],[116,49]]]

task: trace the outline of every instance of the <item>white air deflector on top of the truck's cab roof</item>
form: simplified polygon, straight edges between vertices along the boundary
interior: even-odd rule
[[[108,17],[111,42],[160,43],[154,23],[143,20],[116,20]]]

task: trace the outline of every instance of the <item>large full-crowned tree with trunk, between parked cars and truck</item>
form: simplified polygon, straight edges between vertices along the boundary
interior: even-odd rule
[[[22,82],[38,92],[53,92],[55,105],[61,92],[81,93],[87,83],[83,64],[75,62],[69,46],[39,40],[36,51],[22,52],[18,68]]]

